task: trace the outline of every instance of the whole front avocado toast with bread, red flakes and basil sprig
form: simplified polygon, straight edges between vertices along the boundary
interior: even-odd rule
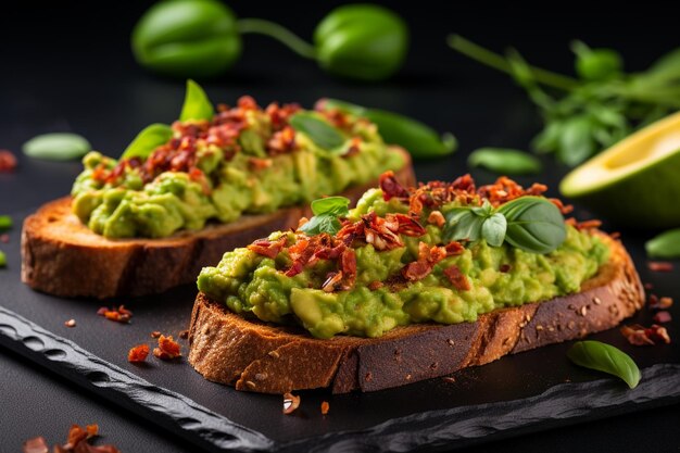
[[[189,362],[239,390],[374,391],[614,327],[643,304],[632,262],[545,189],[387,173],[337,224],[317,210],[204,268]]]

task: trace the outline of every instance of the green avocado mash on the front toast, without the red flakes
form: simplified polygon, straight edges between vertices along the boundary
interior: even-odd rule
[[[461,203],[459,199],[449,201],[439,212],[445,214]],[[369,222],[372,212],[385,217],[407,211],[408,204],[398,198],[385,201],[383,192],[373,189],[344,222],[351,226]],[[424,230],[419,236],[400,235],[400,247],[377,250],[374,243],[379,242],[369,243],[368,236],[363,242],[354,239],[350,248],[355,278],[349,288],[324,288],[339,268],[332,260],[310,260],[301,272],[289,276],[292,255],[302,241],[313,240],[300,231],[272,234],[263,243],[285,246],[274,257],[254,247],[225,253],[216,267],[203,268],[198,287],[235,313],[272,323],[298,323],[317,338],[379,337],[395,326],[474,322],[495,309],[576,292],[608,259],[608,248],[597,237],[567,225],[566,239],[551,253],[529,253],[508,243],[490,247],[480,239],[464,243],[459,253],[441,259],[421,278],[400,281],[394,277],[418,260],[423,242],[443,244],[441,223],[430,215],[432,211],[420,213]],[[462,274],[462,282],[448,277],[451,268]]]

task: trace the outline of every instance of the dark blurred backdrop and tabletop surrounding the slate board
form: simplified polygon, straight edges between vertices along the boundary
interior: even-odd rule
[[[74,131],[96,149],[117,155],[152,122],[172,122],[179,112],[184,80],[162,79],[139,68],[129,51],[129,33],[151,2],[3,5],[0,11],[0,149],[14,151],[20,168],[0,176],[0,213],[36,206],[70,190],[77,163],[24,159],[21,144],[48,131]],[[316,23],[341,2],[253,2],[229,4],[241,17],[262,17],[310,38]],[[298,101],[305,106],[324,96],[393,110],[453,131],[461,149],[451,159],[417,165],[420,178],[451,179],[467,172],[465,156],[480,146],[527,148],[540,122],[525,95],[503,74],[467,60],[445,46],[458,33],[494,50],[518,48],[536,65],[571,73],[568,43],[574,38],[621,51],[629,71],[644,70],[680,45],[672,14],[550,3],[529,9],[444,2],[389,3],[408,22],[412,51],[393,79],[358,84],[330,77],[312,61],[276,41],[249,35],[243,54],[224,77],[202,81],[214,101],[234,103],[244,93],[261,104]],[[644,11],[659,11],[645,3]],[[545,161],[546,172],[566,168]],[[21,177],[30,167],[34,179]],[[492,175],[476,172],[480,180]],[[528,181],[529,179],[526,179]],[[48,186],[50,190],[45,189]],[[524,181],[524,180],[522,180]],[[554,183],[553,183],[554,184]],[[58,188],[56,190],[54,188]],[[17,197],[16,191],[22,196]],[[21,200],[21,202],[20,202]],[[13,234],[12,240],[18,235]],[[1,290],[1,288],[0,288]],[[62,441],[72,423],[99,423],[124,451],[186,451],[173,433],[109,405],[0,350],[0,451],[43,435]],[[678,451],[678,406],[519,437],[478,451]]]

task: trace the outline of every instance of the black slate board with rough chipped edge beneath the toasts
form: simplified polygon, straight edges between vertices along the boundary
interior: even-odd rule
[[[17,225],[23,216],[14,216]],[[673,285],[680,272],[650,273],[641,239],[630,234],[624,240],[643,281],[680,301]],[[574,366],[565,356],[570,343],[564,343],[462,370],[454,382],[432,379],[366,394],[302,392],[301,408],[285,416],[280,397],[209,382],[185,361],[151,358],[142,366],[126,361],[131,345],[154,342],[151,331],[177,336],[188,327],[193,287],[110,301],[135,312],[131,324],[121,325],[97,316],[101,302],[54,298],[21,284],[17,231],[3,249],[9,267],[0,272],[1,344],[212,451],[450,450],[680,401],[678,342],[634,348],[613,329],[592,338],[633,356],[643,370],[634,390]],[[672,311],[680,317],[677,306]],[[64,326],[71,318],[75,328]],[[651,313],[643,311],[631,322],[650,324]],[[679,338],[673,323],[668,328],[671,338]],[[327,416],[320,415],[322,401],[330,402]]]

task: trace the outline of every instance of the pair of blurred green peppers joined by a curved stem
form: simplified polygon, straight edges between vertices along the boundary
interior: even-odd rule
[[[266,35],[325,71],[361,80],[381,80],[402,66],[408,28],[391,10],[349,4],[331,11],[316,27],[314,46],[282,26],[241,18],[217,0],[173,0],[153,5],[133,32],[137,61],[177,77],[211,77],[226,72],[241,52],[241,35]]]

